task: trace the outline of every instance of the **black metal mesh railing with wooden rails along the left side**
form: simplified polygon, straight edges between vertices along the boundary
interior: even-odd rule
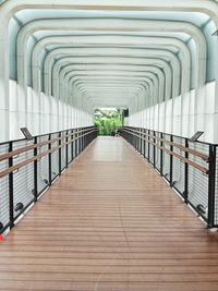
[[[0,233],[97,137],[95,126],[71,129],[0,144]]]

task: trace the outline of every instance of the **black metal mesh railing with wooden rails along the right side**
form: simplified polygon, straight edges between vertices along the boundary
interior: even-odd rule
[[[218,145],[142,128],[120,132],[209,228],[218,227]]]

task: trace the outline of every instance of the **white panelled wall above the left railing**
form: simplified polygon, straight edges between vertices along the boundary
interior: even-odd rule
[[[27,87],[26,97],[19,95],[16,82],[9,82],[9,106],[0,109],[0,142],[23,138],[21,128],[28,128],[33,135],[56,132],[78,124],[77,109],[53,97],[38,94]],[[20,93],[23,92],[20,88]],[[93,118],[81,111],[80,125],[93,125]],[[83,116],[82,116],[83,114]]]

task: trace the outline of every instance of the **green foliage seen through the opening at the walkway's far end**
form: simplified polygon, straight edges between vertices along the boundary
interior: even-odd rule
[[[114,135],[123,123],[122,110],[116,108],[96,109],[94,123],[98,128],[99,135]]]

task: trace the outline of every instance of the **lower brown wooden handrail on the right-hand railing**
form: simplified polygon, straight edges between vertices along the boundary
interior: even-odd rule
[[[125,132],[129,133],[129,131],[126,131],[126,130],[124,130],[124,129],[123,129],[123,131],[125,131]],[[199,166],[198,163],[196,163],[196,162],[194,162],[194,161],[192,161],[192,160],[190,160],[190,159],[187,159],[187,158],[185,158],[185,157],[183,157],[183,156],[181,156],[181,155],[179,155],[179,154],[177,154],[177,153],[174,153],[174,151],[171,151],[171,150],[167,149],[167,148],[164,147],[164,146],[158,146],[156,143],[154,143],[154,142],[152,142],[150,140],[147,140],[147,138],[145,138],[145,137],[142,137],[142,136],[138,135],[138,134],[135,134],[135,133],[132,133],[132,134],[133,134],[134,136],[141,137],[142,140],[148,142],[149,144],[153,144],[153,145],[156,146],[158,149],[161,149],[161,150],[166,151],[168,155],[174,156],[175,158],[180,159],[180,160],[183,161],[184,163],[187,163],[187,165],[192,166],[193,168],[199,170],[199,171],[203,172],[204,174],[209,174],[209,170],[206,169],[206,168],[204,168],[204,167],[202,167],[202,166]]]

